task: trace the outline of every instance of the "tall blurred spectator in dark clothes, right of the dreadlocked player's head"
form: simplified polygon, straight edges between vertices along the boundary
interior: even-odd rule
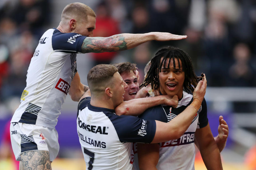
[[[226,83],[226,65],[230,61],[230,41],[228,39],[228,29],[222,17],[222,11],[209,10],[208,23],[205,27],[203,39],[203,52],[210,67],[205,73],[209,77],[209,86],[223,86]],[[218,81],[216,81],[218,80]]]

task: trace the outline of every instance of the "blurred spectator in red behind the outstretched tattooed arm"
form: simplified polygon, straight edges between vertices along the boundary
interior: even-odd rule
[[[119,25],[110,15],[108,4],[103,1],[96,8],[97,22],[93,33],[94,37],[109,37],[119,34]],[[92,53],[94,64],[109,64],[118,52]]]

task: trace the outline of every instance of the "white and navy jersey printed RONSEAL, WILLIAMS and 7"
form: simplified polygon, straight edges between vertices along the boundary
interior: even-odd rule
[[[155,136],[154,120],[118,116],[114,110],[90,105],[91,97],[78,104],[77,133],[86,169],[133,169],[131,142],[151,143]]]

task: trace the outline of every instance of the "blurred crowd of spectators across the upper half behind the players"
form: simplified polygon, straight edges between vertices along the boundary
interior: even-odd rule
[[[256,86],[256,1],[95,0],[88,5],[97,15],[94,36],[153,31],[188,36],[133,49],[124,60],[137,63],[139,70],[158,48],[173,45],[189,54],[197,75],[206,73],[208,86]],[[0,101],[21,95],[38,40],[57,27],[51,25],[54,8],[49,0],[0,2]],[[119,53],[90,55],[93,66],[112,63]]]

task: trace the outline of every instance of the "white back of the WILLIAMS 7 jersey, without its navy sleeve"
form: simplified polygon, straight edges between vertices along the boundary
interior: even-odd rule
[[[112,110],[91,105],[79,111],[77,133],[87,169],[132,169],[132,143],[120,142],[109,117]]]

